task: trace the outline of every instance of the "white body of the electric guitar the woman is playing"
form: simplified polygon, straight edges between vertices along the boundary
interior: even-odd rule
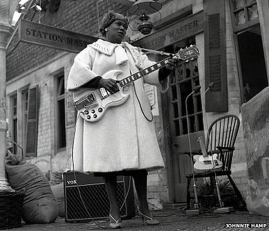
[[[118,76],[120,74],[122,74],[122,71],[112,70],[104,74],[103,78],[119,80]],[[104,92],[103,95],[102,92]],[[88,122],[97,122],[110,107],[122,105],[130,96],[128,93],[124,93],[124,87],[119,87],[118,92],[110,94],[109,96],[106,96],[106,94],[109,94],[109,92],[105,89],[85,91],[85,94],[83,94],[84,96],[82,97],[81,95],[77,96],[76,93],[74,93],[73,97],[75,104],[79,100],[81,100],[81,103],[83,104],[82,108],[76,106],[80,116]]]

